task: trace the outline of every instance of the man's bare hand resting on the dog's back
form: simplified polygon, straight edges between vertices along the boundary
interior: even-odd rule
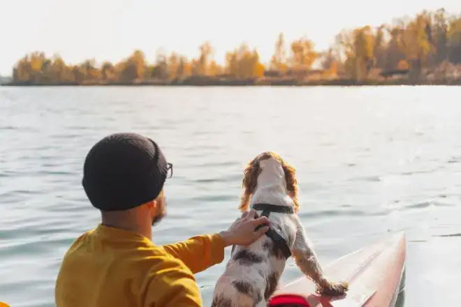
[[[220,232],[224,239],[224,246],[249,245],[259,239],[269,230],[270,221],[265,216],[254,218],[256,211],[251,209],[242,214],[242,218],[236,220],[228,230]],[[266,225],[256,230],[259,225]]]

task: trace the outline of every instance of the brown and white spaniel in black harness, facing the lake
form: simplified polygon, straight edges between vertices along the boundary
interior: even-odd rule
[[[257,216],[269,218],[270,230],[249,246],[232,247],[231,259],[214,287],[212,307],[267,306],[290,256],[319,294],[337,297],[349,290],[344,281],[328,280],[309,244],[296,215],[298,180],[291,165],[277,153],[264,151],[245,167],[242,188],[240,211],[251,205]]]

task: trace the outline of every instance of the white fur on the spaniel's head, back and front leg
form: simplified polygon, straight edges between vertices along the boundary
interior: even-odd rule
[[[261,174],[257,179],[256,190],[251,197],[251,204],[267,203],[279,206],[293,206],[293,200],[288,196],[284,170],[275,158],[261,160],[259,163]],[[256,211],[261,215],[261,211]],[[296,214],[280,214],[271,212],[269,216],[272,228],[281,234],[287,241],[295,262],[301,271],[312,278],[318,285],[325,285],[321,267],[317,262],[314,250],[309,246],[305,229],[300,223]],[[231,259],[226,264],[224,274],[217,281],[213,294],[213,307],[219,306],[239,306],[254,307],[267,306],[265,292],[268,287],[274,287],[272,283],[278,283],[279,277],[285,269],[286,260],[276,257],[272,250],[268,250],[267,245],[271,244],[272,239],[263,235],[250,246],[235,246]],[[266,244],[266,248],[264,248]],[[247,261],[245,257],[235,260],[235,255],[251,253],[261,257],[262,261]],[[259,260],[261,260],[261,258]],[[242,260],[243,259],[243,260]],[[249,264],[249,265],[248,265]],[[277,276],[272,281],[270,276]],[[253,289],[245,291],[248,285],[253,285]],[[238,289],[240,287],[240,290]],[[244,291],[242,291],[244,290]],[[248,292],[248,294],[245,294]],[[270,293],[272,294],[272,293]]]

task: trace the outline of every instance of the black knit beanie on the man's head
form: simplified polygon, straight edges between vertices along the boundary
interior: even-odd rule
[[[167,172],[165,157],[154,141],[136,133],[115,133],[90,149],[82,185],[97,209],[128,210],[156,199]]]

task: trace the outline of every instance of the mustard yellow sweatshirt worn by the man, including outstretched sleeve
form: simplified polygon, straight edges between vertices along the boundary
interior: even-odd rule
[[[223,259],[219,234],[154,246],[139,234],[98,225],[75,240],[64,255],[56,306],[202,306],[193,274]]]

